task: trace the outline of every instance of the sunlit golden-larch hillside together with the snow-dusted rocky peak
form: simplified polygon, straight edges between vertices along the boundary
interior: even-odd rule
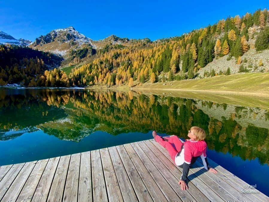
[[[253,14],[219,20],[180,37],[156,41],[115,35],[92,41],[69,27],[38,37],[31,47],[61,54],[65,59],[61,68],[69,73],[67,79],[55,83],[53,80],[66,72],[54,70],[44,75],[45,86],[140,86],[240,72],[267,72],[267,15],[266,9],[259,9]]]

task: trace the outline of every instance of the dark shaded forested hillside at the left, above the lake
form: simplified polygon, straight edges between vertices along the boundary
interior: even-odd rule
[[[61,57],[27,46],[0,45],[0,85],[19,83],[22,86],[37,86],[42,82],[45,84],[45,71],[59,66],[61,61]]]

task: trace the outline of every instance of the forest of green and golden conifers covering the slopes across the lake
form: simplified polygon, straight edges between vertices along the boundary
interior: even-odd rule
[[[38,51],[34,57],[31,54],[26,56],[20,47],[1,45],[0,85],[109,87],[121,84],[133,86],[135,81],[141,85],[145,82],[193,79],[197,77],[197,71],[214,58],[229,55],[227,60],[234,57],[240,64],[241,56],[250,48],[256,48],[256,51],[269,48],[267,15],[268,10],[259,9],[242,17],[229,16],[180,37],[154,42],[149,39],[132,40],[128,46],[111,44],[101,49],[85,46],[71,50],[69,55],[76,62],[84,57],[94,57],[91,62],[73,68],[69,75],[54,68],[61,59],[51,53]],[[250,40],[255,40],[255,44],[251,45]],[[28,49],[25,49],[26,52],[30,52]],[[242,68],[239,72],[245,71]],[[220,74],[229,75],[230,69],[227,72],[215,72],[214,69],[206,72],[206,76]]]

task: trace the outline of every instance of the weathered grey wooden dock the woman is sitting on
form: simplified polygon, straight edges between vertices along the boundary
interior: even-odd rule
[[[269,201],[220,165],[206,171],[201,159],[189,171],[153,139],[0,167],[1,201]],[[245,193],[246,191],[253,193]]]

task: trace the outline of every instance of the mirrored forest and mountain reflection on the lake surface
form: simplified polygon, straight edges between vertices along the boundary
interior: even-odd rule
[[[136,92],[0,89],[0,140],[42,130],[79,142],[95,131],[175,134],[206,130],[209,149],[268,164],[269,112],[210,101]]]

